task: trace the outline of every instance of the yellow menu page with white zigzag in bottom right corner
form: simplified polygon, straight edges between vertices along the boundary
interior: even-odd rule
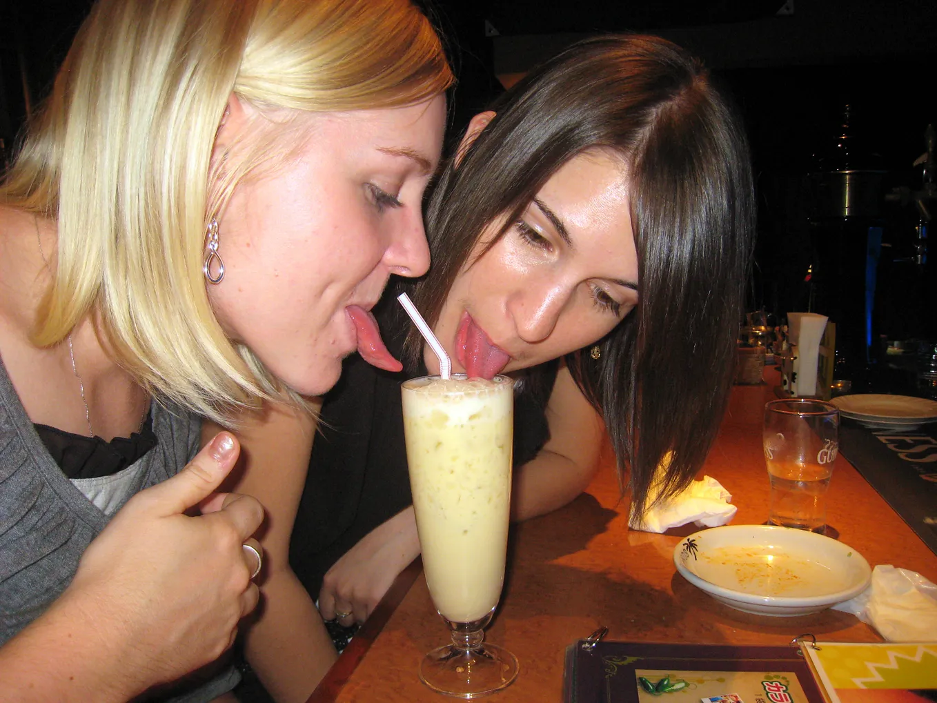
[[[937,642],[801,642],[831,703],[937,701]]]

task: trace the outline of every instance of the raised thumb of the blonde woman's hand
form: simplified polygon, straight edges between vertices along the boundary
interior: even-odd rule
[[[160,516],[183,513],[207,498],[231,472],[241,448],[230,432],[218,432],[185,469],[138,494]]]

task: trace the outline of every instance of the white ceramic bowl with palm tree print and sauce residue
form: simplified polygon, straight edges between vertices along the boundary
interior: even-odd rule
[[[806,615],[866,589],[869,562],[850,546],[804,530],[727,525],[694,532],[674,549],[677,571],[726,606],[759,615]]]

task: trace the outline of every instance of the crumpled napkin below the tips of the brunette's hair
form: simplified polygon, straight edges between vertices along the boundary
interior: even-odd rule
[[[662,462],[662,466],[666,464]],[[639,519],[632,511],[628,526],[646,532],[662,532],[688,522],[695,522],[699,527],[717,527],[736,515],[738,508],[729,502],[731,500],[732,494],[719,481],[704,476],[702,481],[693,481],[670,501],[652,507],[644,519]]]

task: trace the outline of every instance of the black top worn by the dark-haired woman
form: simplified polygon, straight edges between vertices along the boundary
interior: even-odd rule
[[[402,336],[388,339],[394,355],[402,346]],[[514,397],[514,466],[550,437],[545,408],[558,365],[544,366]],[[400,384],[424,374],[382,371],[354,354],[325,396],[290,540],[293,571],[313,598],[335,561],[411,502]]]

